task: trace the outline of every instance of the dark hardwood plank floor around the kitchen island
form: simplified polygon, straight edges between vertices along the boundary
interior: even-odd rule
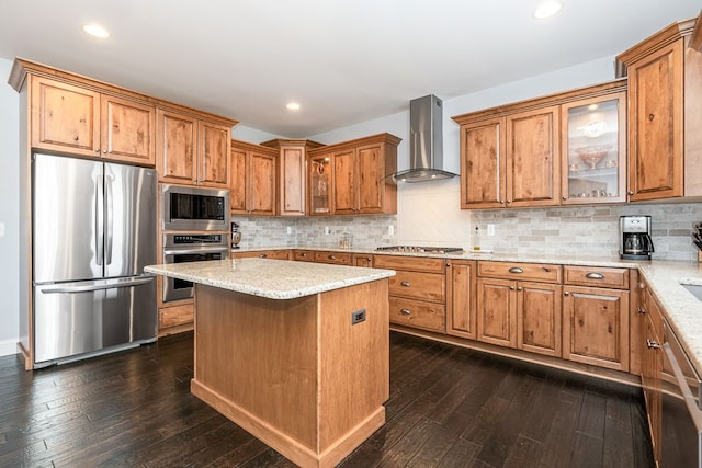
[[[35,372],[0,357],[0,467],[294,466],[190,393],[192,350],[184,333]],[[340,466],[654,465],[639,389],[405,334],[386,408]]]

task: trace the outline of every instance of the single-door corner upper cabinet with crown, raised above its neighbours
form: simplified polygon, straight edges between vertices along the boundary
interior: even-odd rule
[[[275,148],[278,155],[278,214],[306,214],[307,151],[324,146],[312,140],[274,139],[261,146]]]

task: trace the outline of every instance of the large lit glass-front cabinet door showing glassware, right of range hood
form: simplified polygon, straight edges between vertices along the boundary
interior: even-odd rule
[[[562,204],[626,202],[626,92],[562,105]]]

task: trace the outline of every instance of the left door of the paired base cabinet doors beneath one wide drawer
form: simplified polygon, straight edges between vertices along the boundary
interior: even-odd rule
[[[477,338],[486,343],[517,347],[514,282],[478,278]]]

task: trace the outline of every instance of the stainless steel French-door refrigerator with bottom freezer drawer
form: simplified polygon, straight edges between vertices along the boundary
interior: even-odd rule
[[[156,340],[152,169],[32,160],[34,367]]]

